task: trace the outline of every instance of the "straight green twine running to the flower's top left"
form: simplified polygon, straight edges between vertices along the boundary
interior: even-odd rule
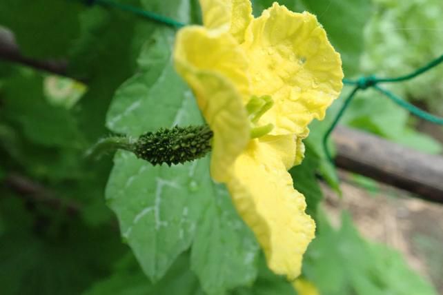
[[[86,2],[86,4],[92,6],[92,5],[99,5],[104,7],[110,7],[110,8],[116,8],[122,11],[130,12],[132,14],[138,15],[139,17],[142,17],[144,19],[148,19],[150,21],[155,21],[157,23],[163,23],[166,26],[170,26],[173,28],[181,28],[186,26],[185,23],[181,23],[179,21],[176,21],[175,19],[170,19],[169,17],[164,17],[163,15],[149,12],[146,10],[142,10],[140,8],[137,8],[135,6],[130,6],[128,4],[115,2],[112,0],[83,0]]]

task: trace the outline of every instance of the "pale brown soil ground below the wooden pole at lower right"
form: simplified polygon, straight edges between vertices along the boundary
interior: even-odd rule
[[[333,223],[348,210],[366,238],[393,247],[443,294],[443,205],[340,172],[340,199],[326,185],[324,207]]]

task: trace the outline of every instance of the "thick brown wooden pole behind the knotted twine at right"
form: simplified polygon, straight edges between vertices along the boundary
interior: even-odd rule
[[[338,167],[443,203],[443,157],[417,152],[378,136],[338,127]]]

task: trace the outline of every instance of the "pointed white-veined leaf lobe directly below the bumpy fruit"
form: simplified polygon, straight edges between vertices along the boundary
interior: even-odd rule
[[[106,188],[108,205],[152,281],[164,276],[192,242],[205,204],[195,179],[206,172],[205,164],[152,167],[126,152],[115,156]]]

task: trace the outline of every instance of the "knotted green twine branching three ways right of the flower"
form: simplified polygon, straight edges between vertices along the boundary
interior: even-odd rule
[[[357,80],[343,79],[343,83],[345,83],[347,85],[355,85],[355,88],[353,89],[351,94],[349,94],[348,97],[346,97],[346,100],[344,101],[342,108],[340,108],[338,114],[334,118],[333,123],[331,124],[328,131],[326,131],[326,133],[323,136],[323,149],[324,149],[324,152],[325,152],[328,160],[331,161],[331,163],[334,163],[331,153],[329,152],[328,145],[327,145],[328,138],[329,138],[329,136],[331,136],[331,133],[333,132],[333,130],[337,126],[339,119],[343,116],[344,111],[348,108],[351,101],[355,97],[355,94],[359,90],[366,90],[367,88],[374,88],[378,92],[380,92],[380,93],[384,94],[386,97],[388,97],[388,99],[391,99],[391,101],[397,103],[397,105],[400,105],[400,107],[408,110],[408,112],[410,112],[411,114],[414,114],[415,116],[418,116],[421,119],[424,119],[426,121],[429,121],[429,122],[432,122],[435,124],[439,124],[439,125],[443,125],[443,118],[441,118],[439,116],[435,116],[433,114],[430,114],[429,112],[425,112],[424,110],[421,110],[420,108],[417,108],[415,105],[412,105],[411,103],[408,103],[407,101],[404,101],[403,99],[396,96],[392,92],[390,92],[378,85],[380,83],[396,83],[396,82],[401,82],[401,81],[413,79],[413,78],[419,76],[420,74],[423,74],[424,72],[427,72],[428,70],[431,70],[431,68],[434,68],[436,65],[439,65],[442,62],[443,62],[443,55],[441,55],[437,59],[434,59],[433,61],[431,61],[427,65],[424,65],[422,68],[418,68],[414,72],[411,72],[410,74],[406,74],[406,75],[400,76],[400,77],[377,78],[372,75],[372,76],[368,76],[368,77],[360,77]]]

